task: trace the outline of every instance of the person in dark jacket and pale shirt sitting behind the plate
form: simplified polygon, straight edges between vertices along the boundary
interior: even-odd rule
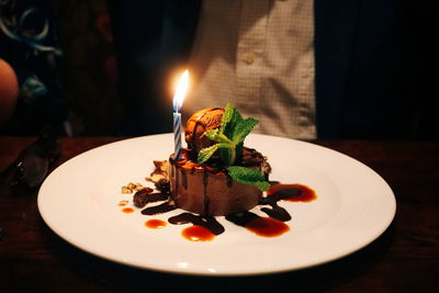
[[[437,137],[424,97],[424,36],[406,1],[109,1],[135,134],[171,131],[170,76],[188,67],[182,112],[234,102],[261,133],[292,138]],[[426,119],[427,117],[427,119]]]

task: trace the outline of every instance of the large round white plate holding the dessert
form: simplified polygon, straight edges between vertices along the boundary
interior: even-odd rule
[[[378,238],[391,224],[395,198],[386,182],[363,164],[309,143],[249,135],[246,145],[267,155],[271,180],[303,183],[318,199],[280,202],[292,215],[291,230],[275,238],[218,221],[225,233],[212,241],[184,239],[187,226],[150,229],[160,216],[122,213],[121,187],[146,183],[153,160],[172,151],[171,134],[116,142],[86,151],[58,167],[43,183],[38,209],[60,237],[92,255],[138,268],[206,275],[244,275],[307,268],[349,255]],[[132,202],[130,203],[132,206]],[[259,212],[259,207],[255,209]]]

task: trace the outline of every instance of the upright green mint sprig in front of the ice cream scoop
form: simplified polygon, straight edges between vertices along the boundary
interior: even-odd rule
[[[209,160],[217,149],[219,156],[226,165],[234,165],[243,151],[243,143],[246,136],[259,123],[255,119],[243,119],[232,103],[227,103],[219,128],[205,132],[205,136],[221,146],[211,146],[199,153],[198,162],[203,164]]]

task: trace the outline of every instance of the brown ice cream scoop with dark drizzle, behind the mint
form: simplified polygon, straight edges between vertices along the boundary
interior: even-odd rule
[[[224,114],[223,108],[207,108],[195,112],[185,124],[185,142],[196,153],[215,144],[204,133],[219,127]]]

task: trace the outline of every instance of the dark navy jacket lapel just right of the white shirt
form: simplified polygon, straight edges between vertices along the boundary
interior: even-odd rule
[[[316,123],[319,138],[339,135],[360,0],[315,0]]]

